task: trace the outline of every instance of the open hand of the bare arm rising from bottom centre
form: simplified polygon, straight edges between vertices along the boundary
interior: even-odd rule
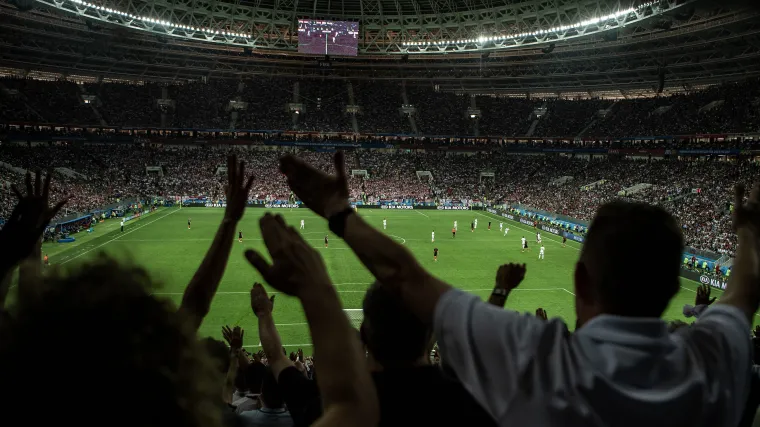
[[[322,257],[281,216],[266,214],[260,225],[272,264],[254,250],[249,249],[245,256],[267,283],[292,296],[332,286]]]

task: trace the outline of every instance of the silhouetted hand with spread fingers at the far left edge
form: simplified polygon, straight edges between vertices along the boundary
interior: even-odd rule
[[[0,262],[15,266],[26,258],[34,250],[50,220],[66,203],[66,200],[62,200],[52,208],[48,207],[51,176],[52,173],[48,171],[43,182],[41,173],[37,170],[32,185],[32,175],[27,172],[26,194],[16,185],[12,186],[18,203],[0,230]]]

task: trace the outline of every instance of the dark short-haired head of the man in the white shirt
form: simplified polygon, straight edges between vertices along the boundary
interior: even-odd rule
[[[576,315],[659,317],[678,291],[683,236],[663,209],[614,201],[599,208],[575,268]]]

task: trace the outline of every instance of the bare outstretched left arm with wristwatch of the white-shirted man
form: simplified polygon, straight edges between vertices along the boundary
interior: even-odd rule
[[[327,175],[301,160],[281,160],[288,185],[317,214],[328,219],[330,229],[348,243],[362,263],[385,286],[392,286],[404,303],[424,322],[433,323],[439,298],[450,286],[433,277],[402,245],[367,224],[348,203],[343,153],[335,155],[336,176]]]

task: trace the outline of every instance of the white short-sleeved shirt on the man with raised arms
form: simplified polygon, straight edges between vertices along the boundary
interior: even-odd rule
[[[658,318],[602,315],[571,334],[559,319],[441,297],[443,362],[504,426],[734,427],[747,399],[750,325],[715,304],[668,334]]]

